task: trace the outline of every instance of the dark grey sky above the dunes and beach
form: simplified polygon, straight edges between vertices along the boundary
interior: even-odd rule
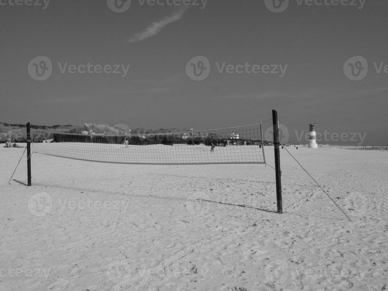
[[[291,142],[315,122],[318,143],[386,145],[387,12],[386,0],[0,0],[0,122],[267,130],[275,109]]]

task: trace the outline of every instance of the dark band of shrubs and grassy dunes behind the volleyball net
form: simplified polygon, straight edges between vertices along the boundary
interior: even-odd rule
[[[45,130],[45,132],[33,132],[33,142],[94,142],[102,144],[124,144],[125,137],[131,145],[152,145],[152,144],[187,144],[187,145],[221,145],[225,146],[232,140],[229,133],[191,133],[187,129],[159,128],[157,130],[138,127],[136,129],[118,128],[104,123],[84,123],[83,125],[31,125],[32,129]],[[183,134],[182,132],[185,132]],[[73,133],[66,134],[66,133]],[[7,139],[12,142],[26,142],[26,125],[0,123],[0,142]],[[262,140],[251,138],[240,138],[232,140],[230,144],[257,145]],[[264,141],[267,144],[267,141]]]

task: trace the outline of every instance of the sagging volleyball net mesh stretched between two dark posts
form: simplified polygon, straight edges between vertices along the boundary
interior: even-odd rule
[[[262,136],[260,124],[135,135],[77,134],[31,128],[31,151],[103,163],[264,164]]]

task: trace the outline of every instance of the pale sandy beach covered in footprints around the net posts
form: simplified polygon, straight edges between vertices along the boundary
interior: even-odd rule
[[[126,165],[0,146],[1,290],[388,289],[387,151],[281,150],[270,166]],[[215,149],[217,155],[217,148]],[[274,166],[273,147],[265,147]]]

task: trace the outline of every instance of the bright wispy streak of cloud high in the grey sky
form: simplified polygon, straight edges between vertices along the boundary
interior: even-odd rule
[[[157,35],[165,26],[183,18],[185,12],[189,9],[189,6],[184,6],[179,10],[175,11],[172,15],[166,16],[163,19],[152,23],[150,26],[145,28],[143,31],[133,35],[128,42],[140,42],[146,38]]]

